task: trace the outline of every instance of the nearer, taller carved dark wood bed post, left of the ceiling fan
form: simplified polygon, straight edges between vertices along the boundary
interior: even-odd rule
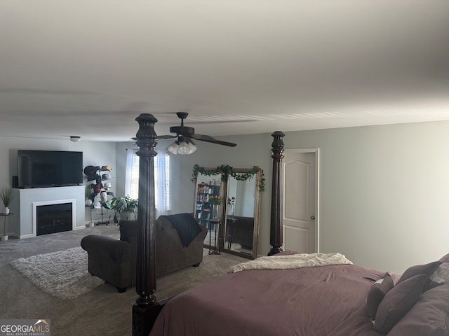
[[[156,151],[157,119],[142,113],[135,120],[139,123],[136,144],[139,165],[138,241],[135,291],[140,295],[133,306],[133,335],[149,335],[152,314],[158,309],[156,291],[156,263],[154,258],[154,156]]]

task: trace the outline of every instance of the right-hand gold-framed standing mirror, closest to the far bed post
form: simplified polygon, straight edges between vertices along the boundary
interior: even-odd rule
[[[245,258],[257,258],[259,235],[260,183],[262,170],[233,169],[227,180],[225,211],[225,251]]]

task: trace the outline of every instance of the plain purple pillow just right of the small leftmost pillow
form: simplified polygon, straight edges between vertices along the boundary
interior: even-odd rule
[[[418,274],[397,283],[377,308],[374,330],[387,334],[420,298],[429,276]]]

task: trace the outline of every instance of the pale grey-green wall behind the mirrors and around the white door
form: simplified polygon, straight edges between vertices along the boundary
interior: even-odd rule
[[[273,131],[275,131],[274,129]],[[449,252],[449,122],[286,132],[285,148],[320,148],[321,252],[358,265],[403,272]],[[194,164],[264,170],[259,254],[269,251],[271,134],[220,137],[235,148],[197,141],[177,155],[179,204],[192,211]]]

